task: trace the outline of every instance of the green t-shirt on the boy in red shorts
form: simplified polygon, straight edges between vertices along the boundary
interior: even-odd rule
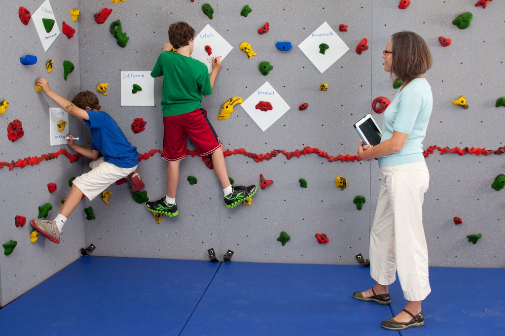
[[[162,51],[151,76],[163,76],[163,117],[201,108],[201,96],[212,93],[207,66],[177,52]]]

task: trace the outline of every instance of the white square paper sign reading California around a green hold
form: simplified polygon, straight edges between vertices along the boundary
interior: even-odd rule
[[[155,79],[151,77],[151,72],[121,71],[121,106],[154,105]]]

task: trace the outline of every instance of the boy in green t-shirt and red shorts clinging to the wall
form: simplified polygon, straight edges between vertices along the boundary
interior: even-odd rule
[[[223,155],[223,147],[207,111],[201,106],[202,95],[210,95],[221,69],[219,58],[212,58],[212,71],[198,60],[192,59],[195,30],[186,22],[171,24],[168,29],[170,43],[162,52],[151,71],[151,76],[163,76],[163,158],[167,163],[167,194],[146,207],[154,213],[173,217],[179,213],[175,194],[179,181],[179,163],[187,152],[187,138],[193,142],[198,154],[211,155],[214,171],[224,192],[227,208],[233,208],[256,193],[256,186],[232,186]],[[177,52],[171,52],[172,47]]]

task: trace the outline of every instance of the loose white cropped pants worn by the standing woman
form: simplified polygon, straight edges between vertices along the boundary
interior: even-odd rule
[[[425,161],[380,167],[381,188],[370,232],[370,275],[391,285],[395,272],[408,301],[431,292],[423,200],[430,175]]]

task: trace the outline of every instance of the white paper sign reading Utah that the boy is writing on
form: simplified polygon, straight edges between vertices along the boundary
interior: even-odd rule
[[[206,51],[206,46],[212,49],[212,53]],[[198,60],[209,69],[209,74],[212,71],[212,58],[219,57],[221,62],[228,53],[230,53],[233,47],[228,43],[217,31],[214,30],[210,25],[205,26],[201,32],[195,36],[193,39],[193,53],[191,57]]]

